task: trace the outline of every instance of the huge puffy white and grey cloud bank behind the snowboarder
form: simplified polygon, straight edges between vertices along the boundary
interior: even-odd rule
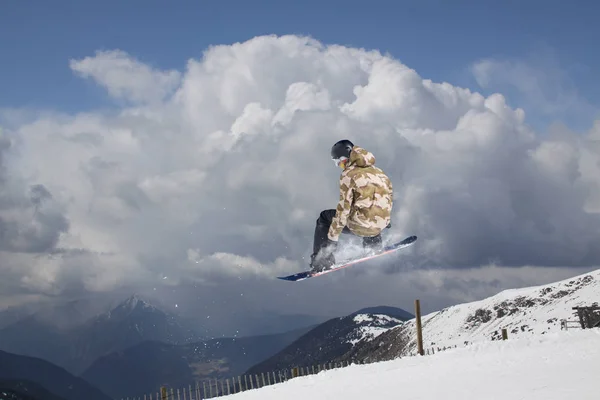
[[[597,128],[542,134],[499,93],[305,37],[214,46],[183,71],[118,50],[71,68],[135,104],[11,127],[1,154],[18,184],[3,184],[2,199],[23,201],[1,201],[12,227],[2,273],[22,290],[210,285],[307,267],[318,213],[337,202],[329,149],[342,138],[394,183],[389,239],[419,236],[378,271],[600,264]]]

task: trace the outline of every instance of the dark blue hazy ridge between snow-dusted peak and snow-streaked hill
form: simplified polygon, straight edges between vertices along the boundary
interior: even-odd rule
[[[288,346],[310,328],[286,333],[220,338],[188,345],[143,342],[95,361],[81,376],[114,398],[158,390],[160,382],[187,387],[230,378]]]

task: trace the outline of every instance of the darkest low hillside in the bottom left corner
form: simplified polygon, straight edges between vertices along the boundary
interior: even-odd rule
[[[111,400],[109,396],[78,378],[39,358],[0,351],[0,390],[16,399]]]

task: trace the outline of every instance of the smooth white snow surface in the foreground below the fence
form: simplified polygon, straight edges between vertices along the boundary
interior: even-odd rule
[[[226,396],[239,400],[598,399],[600,329],[486,341],[352,365]]]

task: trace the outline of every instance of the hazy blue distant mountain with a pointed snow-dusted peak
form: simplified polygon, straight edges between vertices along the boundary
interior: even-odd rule
[[[147,340],[185,344],[199,339],[176,315],[131,296],[111,311],[68,328],[51,324],[47,316],[29,315],[0,330],[0,350],[39,357],[78,375],[99,357]]]

